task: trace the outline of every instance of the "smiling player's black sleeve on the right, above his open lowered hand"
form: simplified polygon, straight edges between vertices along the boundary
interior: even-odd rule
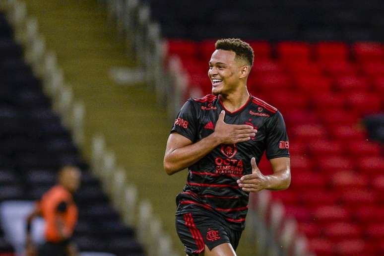
[[[289,157],[289,140],[284,119],[280,112],[277,112],[268,120],[266,129],[267,159]]]

